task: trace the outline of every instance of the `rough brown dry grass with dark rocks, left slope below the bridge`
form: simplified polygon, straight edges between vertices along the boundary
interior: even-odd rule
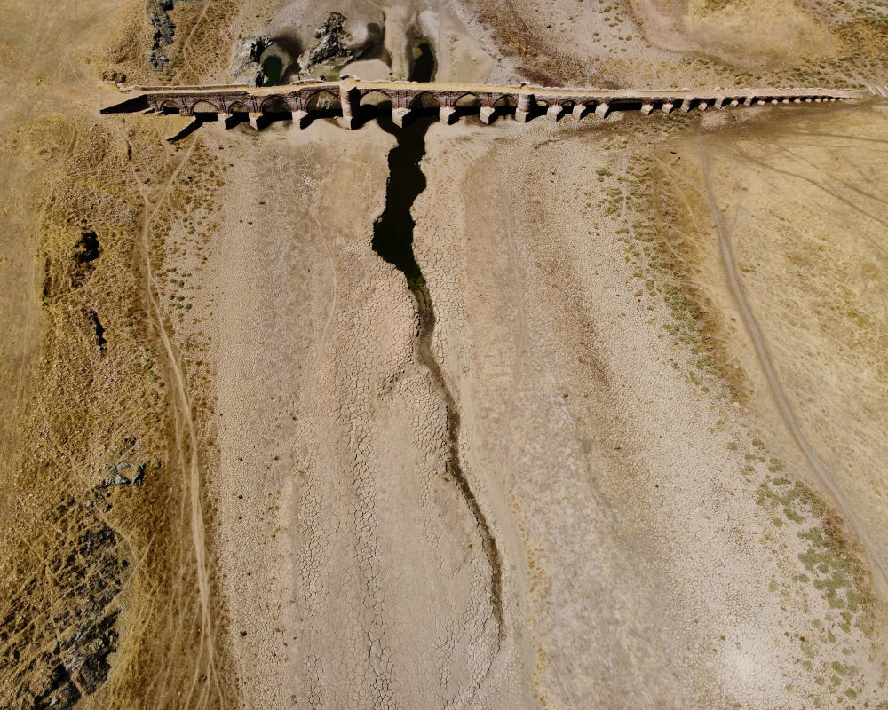
[[[12,664],[0,698],[30,707],[30,698],[67,683],[59,664],[83,659],[84,643],[104,643],[117,647],[111,682],[97,690],[74,662],[70,687],[96,691],[99,705],[177,706],[178,691],[206,670],[194,669],[202,630],[182,506],[186,452],[170,429],[169,372],[146,318],[133,237],[140,201],[129,170],[159,183],[177,156],[147,122],[131,128],[128,146],[107,125],[79,122],[73,141],[70,127],[50,117],[12,138],[47,162],[68,154],[40,227],[44,340],[4,496],[4,519],[16,524],[4,525],[0,651]],[[88,262],[84,232],[99,240]],[[100,489],[120,462],[131,464],[123,469],[130,476],[145,464],[144,485]],[[92,632],[73,640],[97,623],[102,641]],[[206,682],[192,701],[214,706]]]

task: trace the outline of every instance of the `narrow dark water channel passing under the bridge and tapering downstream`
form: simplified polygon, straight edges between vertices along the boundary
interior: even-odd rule
[[[434,78],[435,59],[432,46],[426,40],[418,40],[414,45],[418,56],[410,71],[410,81],[430,82]],[[435,331],[435,311],[432,295],[426,286],[423,272],[416,263],[413,253],[413,230],[416,222],[410,214],[416,197],[426,187],[426,180],[419,163],[425,155],[425,133],[433,122],[438,121],[437,111],[432,115],[420,115],[403,128],[392,122],[389,115],[377,116],[379,126],[386,133],[397,138],[398,143],[389,152],[389,177],[385,185],[385,210],[373,225],[373,250],[389,264],[403,272],[407,285],[416,298],[419,312],[419,335],[416,353],[419,361],[428,368],[432,383],[447,407],[448,423],[448,474],[453,477],[463,499],[478,525],[484,553],[490,565],[490,603],[496,619],[497,634],[502,641],[503,625],[503,580],[502,565],[496,540],[490,532],[484,512],[478,499],[472,493],[472,486],[465,477],[459,461],[459,410],[456,400],[448,389],[447,381],[438,361],[432,353],[432,336]]]

